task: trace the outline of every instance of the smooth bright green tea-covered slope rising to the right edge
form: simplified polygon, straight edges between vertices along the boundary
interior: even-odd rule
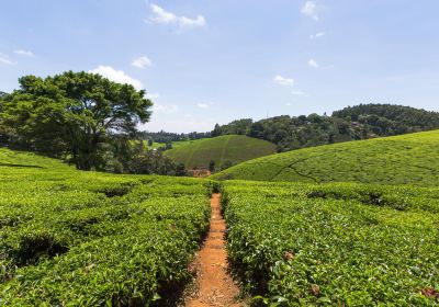
[[[244,162],[212,179],[437,185],[439,130],[305,148]]]

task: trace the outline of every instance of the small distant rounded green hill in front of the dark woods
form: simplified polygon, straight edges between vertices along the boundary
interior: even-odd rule
[[[241,135],[227,135],[173,144],[176,148],[165,151],[176,162],[188,169],[209,167],[211,160],[216,168],[225,161],[234,164],[275,152],[275,145]]]

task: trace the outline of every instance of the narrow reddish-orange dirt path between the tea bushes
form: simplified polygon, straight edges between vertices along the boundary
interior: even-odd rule
[[[239,288],[227,274],[226,224],[221,214],[219,197],[219,194],[214,194],[211,200],[211,228],[195,260],[198,288],[185,299],[187,307],[243,306],[235,299]]]

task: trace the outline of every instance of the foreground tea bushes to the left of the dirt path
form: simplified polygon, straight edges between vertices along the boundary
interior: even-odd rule
[[[192,277],[210,186],[0,149],[0,305],[171,304]]]

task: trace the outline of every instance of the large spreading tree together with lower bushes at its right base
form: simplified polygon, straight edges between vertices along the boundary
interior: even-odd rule
[[[149,121],[145,91],[99,75],[67,71],[25,76],[0,94],[0,143],[65,159],[79,170],[182,174],[161,151],[134,146],[136,126]]]

